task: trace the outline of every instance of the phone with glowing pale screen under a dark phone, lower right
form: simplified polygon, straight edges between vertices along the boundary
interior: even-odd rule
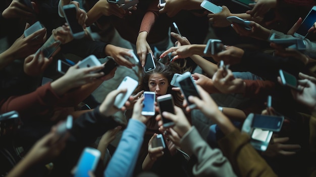
[[[271,141],[273,131],[254,128],[250,135],[250,144],[254,149],[266,151]]]

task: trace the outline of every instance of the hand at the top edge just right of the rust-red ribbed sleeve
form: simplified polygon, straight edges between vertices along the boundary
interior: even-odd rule
[[[189,10],[190,4],[189,1],[182,0],[167,0],[165,7],[159,10],[159,13],[166,13],[168,17],[174,17],[181,10]],[[158,8],[161,8],[158,4]]]

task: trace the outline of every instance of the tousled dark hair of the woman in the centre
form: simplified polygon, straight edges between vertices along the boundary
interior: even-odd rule
[[[182,102],[183,102],[183,98],[181,97],[180,92],[177,91],[173,91],[171,88],[172,86],[170,85],[170,82],[172,80],[172,77],[175,73],[180,73],[182,74],[184,71],[183,67],[181,67],[178,63],[171,63],[170,65],[166,66],[160,62],[155,62],[156,68],[148,73],[145,73],[143,71],[142,73],[142,78],[140,79],[139,85],[137,86],[137,88],[134,91],[134,94],[137,94],[138,92],[144,90],[144,91],[148,91],[149,87],[148,87],[148,80],[149,80],[149,76],[151,76],[152,74],[162,74],[165,78],[168,79],[168,90],[167,93],[172,94],[175,105],[182,107]]]

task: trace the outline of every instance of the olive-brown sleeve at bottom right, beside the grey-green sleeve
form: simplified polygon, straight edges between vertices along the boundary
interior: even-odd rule
[[[219,146],[240,176],[277,176],[239,130],[219,140]]]

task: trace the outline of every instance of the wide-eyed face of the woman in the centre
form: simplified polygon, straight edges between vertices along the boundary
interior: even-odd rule
[[[156,93],[156,97],[167,93],[169,81],[162,74],[154,73],[149,76],[148,87],[151,92]]]

